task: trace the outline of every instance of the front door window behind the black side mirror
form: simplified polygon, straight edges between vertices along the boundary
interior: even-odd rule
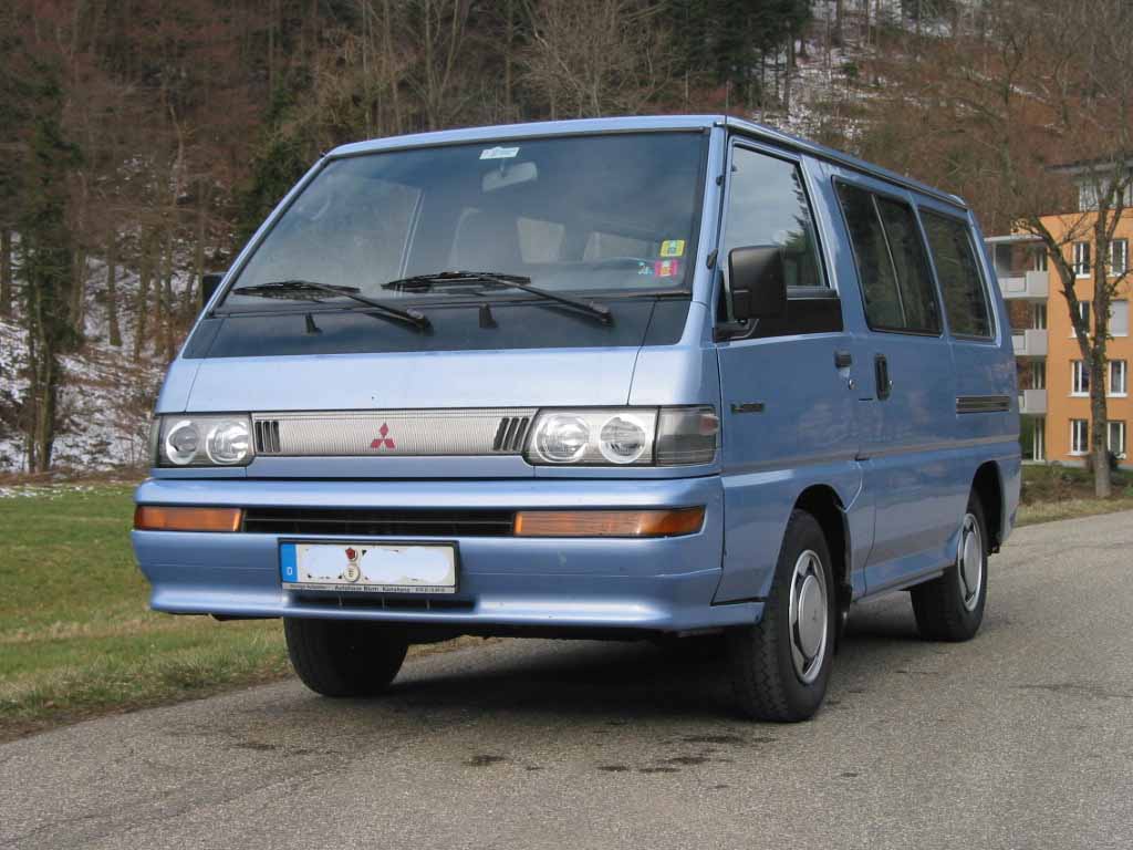
[[[749,245],[782,248],[787,287],[827,286],[818,264],[815,219],[799,167],[776,156],[734,147],[719,252],[725,280],[729,253]]]

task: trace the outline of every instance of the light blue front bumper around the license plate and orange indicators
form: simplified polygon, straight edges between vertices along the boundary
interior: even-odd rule
[[[681,537],[457,537],[459,593],[441,605],[373,605],[286,590],[272,534],[134,532],[153,585],[151,605],[222,617],[365,619],[470,631],[692,631],[752,623],[758,602],[713,605],[723,552],[718,476],[681,479],[255,481],[155,479],[139,504],[375,509],[583,509],[705,505],[705,526]],[[293,539],[293,536],[288,536]],[[305,535],[304,539],[353,539]],[[380,539],[380,538],[378,538]],[[412,537],[398,537],[412,539]],[[420,538],[428,539],[428,538]]]

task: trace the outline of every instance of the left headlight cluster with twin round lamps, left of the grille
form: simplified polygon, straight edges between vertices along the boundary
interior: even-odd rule
[[[255,450],[247,416],[160,416],[150,436],[156,466],[246,466]]]

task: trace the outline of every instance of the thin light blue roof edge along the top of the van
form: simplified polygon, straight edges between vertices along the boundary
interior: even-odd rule
[[[568,136],[594,133],[619,133],[623,130],[704,130],[712,127],[727,127],[755,138],[761,138],[781,147],[810,154],[844,168],[860,171],[887,182],[903,186],[930,197],[968,209],[959,195],[934,188],[896,171],[875,165],[847,153],[810,142],[774,127],[727,116],[634,116],[627,118],[582,118],[569,121],[533,121],[530,124],[508,124],[494,127],[468,127],[434,133],[414,133],[406,136],[390,136],[368,142],[353,142],[331,151],[329,156],[351,156],[377,151],[394,151],[406,147],[429,147],[476,142],[494,142],[516,138]]]

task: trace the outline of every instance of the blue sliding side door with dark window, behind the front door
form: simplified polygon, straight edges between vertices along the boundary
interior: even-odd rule
[[[952,509],[955,366],[917,213],[906,193],[858,175],[835,178],[866,315],[861,433],[864,491],[875,505],[869,593],[939,569],[956,530]]]

